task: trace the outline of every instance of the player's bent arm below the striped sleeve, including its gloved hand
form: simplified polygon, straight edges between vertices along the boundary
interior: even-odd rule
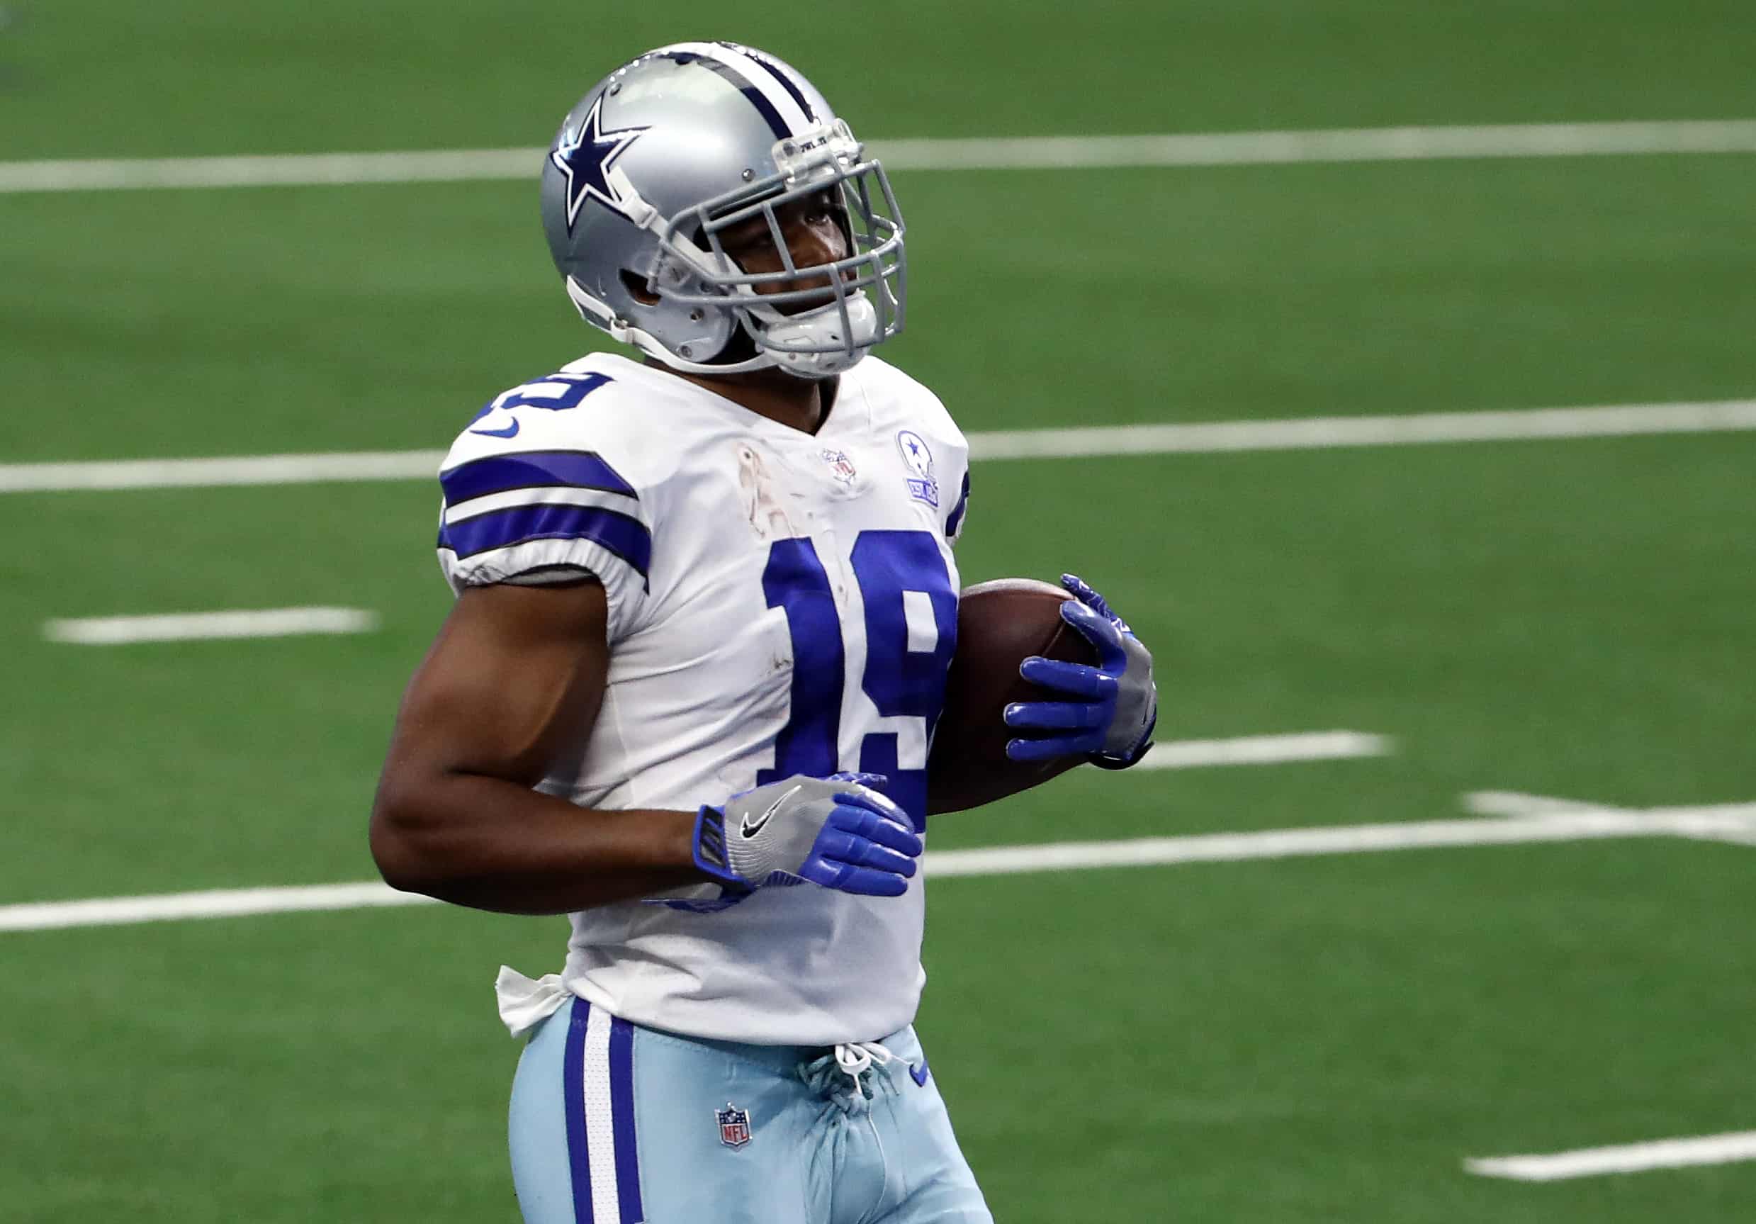
[[[386,882],[502,913],[578,913],[704,880],[722,896],[781,880],[908,889],[922,843],[873,774],[785,778],[699,811],[602,811],[534,790],[590,738],[606,622],[595,581],[458,597],[402,699],[372,806]]]

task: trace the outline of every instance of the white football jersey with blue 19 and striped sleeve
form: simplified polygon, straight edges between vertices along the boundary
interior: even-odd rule
[[[939,400],[873,356],[815,436],[602,353],[495,399],[441,471],[446,580],[588,569],[609,602],[597,725],[541,790],[694,811],[862,769],[924,829],[968,460]],[[922,876],[901,897],[718,897],[704,882],[571,915],[565,987],[636,1024],[771,1045],[913,1019]]]

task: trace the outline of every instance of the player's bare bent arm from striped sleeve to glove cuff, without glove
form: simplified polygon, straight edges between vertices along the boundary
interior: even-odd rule
[[[592,811],[532,790],[588,736],[609,671],[604,588],[465,590],[402,699],[372,804],[397,889],[569,913],[702,875],[694,811]]]

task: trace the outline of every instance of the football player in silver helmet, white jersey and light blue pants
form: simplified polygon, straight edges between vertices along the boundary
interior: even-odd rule
[[[969,455],[867,356],[903,327],[890,183],[799,72],[685,42],[567,114],[543,223],[643,360],[458,436],[457,602],[372,811],[392,885],[571,917],[560,975],[497,983],[523,1215],[989,1220],[910,1026]],[[1066,585],[1101,666],[1029,660],[1008,752],[1133,764],[1152,657]]]

